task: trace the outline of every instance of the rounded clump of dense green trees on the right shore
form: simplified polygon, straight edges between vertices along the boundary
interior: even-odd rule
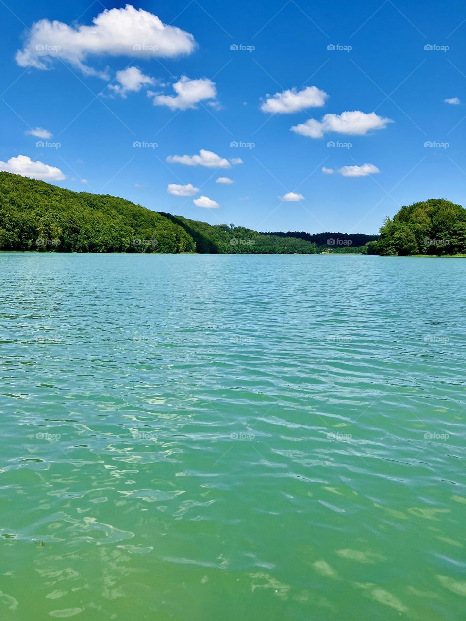
[[[466,209],[445,199],[401,207],[387,218],[372,248],[380,255],[456,255],[466,252]]]

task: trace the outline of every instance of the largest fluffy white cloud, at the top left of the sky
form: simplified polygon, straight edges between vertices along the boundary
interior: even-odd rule
[[[104,77],[106,73],[85,65],[89,56],[173,58],[190,54],[195,45],[189,32],[163,24],[156,15],[127,4],[124,9],[99,13],[91,26],[69,26],[48,19],[35,22],[23,50],[16,53],[16,62],[22,67],[48,69],[53,58],[60,58],[83,73]]]

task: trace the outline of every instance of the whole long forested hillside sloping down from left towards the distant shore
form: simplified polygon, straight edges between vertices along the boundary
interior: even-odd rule
[[[0,172],[0,250],[314,254],[329,237],[344,237],[323,233],[318,244],[308,233],[293,235],[209,225],[109,194],[73,192]]]

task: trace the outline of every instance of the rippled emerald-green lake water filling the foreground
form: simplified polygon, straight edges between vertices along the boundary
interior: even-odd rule
[[[0,619],[464,619],[465,275],[2,253]]]

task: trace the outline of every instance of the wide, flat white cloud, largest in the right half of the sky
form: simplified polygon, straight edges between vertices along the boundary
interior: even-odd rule
[[[305,123],[293,125],[291,130],[309,138],[322,138],[325,132],[363,136],[372,129],[383,129],[388,123],[393,121],[380,117],[375,112],[366,114],[354,110],[341,114],[326,114],[321,121],[309,119]]]

